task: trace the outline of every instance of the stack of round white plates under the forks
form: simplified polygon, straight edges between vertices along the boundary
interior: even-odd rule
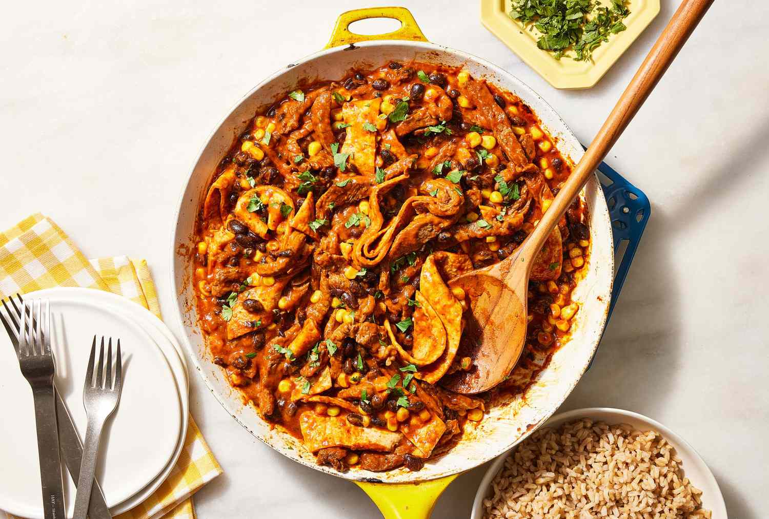
[[[56,386],[81,439],[82,391],[94,335],[112,337],[113,348],[120,338],[123,391],[102,436],[96,475],[112,514],[128,511],[165,481],[184,445],[189,381],[181,346],[150,311],[109,292],[52,288],[24,297],[51,301]],[[0,331],[0,510],[43,517],[32,390],[11,341]],[[66,467],[64,472],[72,517],[75,483]]]

